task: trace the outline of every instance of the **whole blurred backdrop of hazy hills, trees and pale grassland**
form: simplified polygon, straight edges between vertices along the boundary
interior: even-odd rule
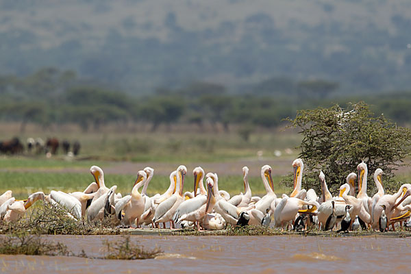
[[[0,10],[0,140],[16,136],[27,155],[27,138],[55,137],[79,142],[84,160],[280,158],[286,173],[301,137],[283,119],[297,110],[365,101],[410,123],[408,0],[21,0]]]

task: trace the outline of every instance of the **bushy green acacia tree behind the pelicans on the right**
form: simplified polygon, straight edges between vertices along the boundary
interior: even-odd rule
[[[300,110],[295,119],[288,121],[303,135],[300,157],[308,186],[319,190],[321,170],[329,188],[336,190],[364,161],[371,190],[375,188],[372,175],[380,168],[384,171],[384,188],[397,191],[393,171],[405,165],[403,158],[411,152],[410,129],[397,126],[383,114],[374,116],[364,102],[350,103],[347,108],[334,105]]]

